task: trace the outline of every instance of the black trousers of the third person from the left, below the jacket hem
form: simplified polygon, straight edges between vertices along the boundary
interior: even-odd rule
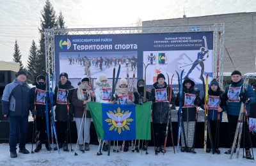
[[[58,135],[58,142],[59,144],[63,144],[68,140],[68,121],[57,121],[58,128],[57,128],[57,135]],[[70,142],[70,140],[68,140]]]

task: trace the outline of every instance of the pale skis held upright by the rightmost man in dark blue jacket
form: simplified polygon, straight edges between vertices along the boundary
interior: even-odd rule
[[[248,83],[249,83],[249,78],[245,77],[244,78],[244,84],[243,84],[243,92],[246,91]],[[233,141],[233,144],[232,144],[232,149],[231,149],[231,153],[230,153],[230,159],[232,159],[232,156],[233,156],[233,153],[234,153],[234,149],[236,147],[237,137],[242,134],[242,131],[241,131],[240,128],[242,128],[242,126],[243,126],[244,107],[245,107],[244,103],[241,102],[241,108],[240,108],[240,112],[239,112],[239,116],[238,116],[238,120],[237,120],[236,133],[235,133],[234,141]],[[241,136],[239,136],[239,137],[241,139]],[[239,153],[238,150],[239,149],[237,148],[237,153]],[[238,155],[237,155],[237,158],[238,158]]]

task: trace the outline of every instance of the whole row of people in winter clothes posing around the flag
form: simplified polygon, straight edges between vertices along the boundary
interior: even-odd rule
[[[153,84],[151,91],[147,91],[144,96],[145,80],[141,79],[137,82],[137,88],[134,91],[129,91],[127,88],[127,79],[120,79],[119,85],[116,87],[116,100],[111,100],[111,85],[108,82],[106,75],[100,75],[95,81],[94,88],[91,88],[89,77],[84,77],[79,82],[78,88],[74,88],[71,82],[68,80],[67,73],[60,74],[60,81],[54,89],[54,103],[49,104],[49,107],[55,107],[55,120],[59,123],[57,130],[58,135],[58,147],[63,148],[63,151],[69,151],[68,149],[68,123],[76,121],[77,135],[81,128],[81,134],[78,137],[79,150],[90,150],[90,124],[91,116],[90,111],[86,112],[86,124],[82,121],[83,112],[88,102],[100,102],[100,103],[118,103],[118,104],[143,104],[144,97],[147,101],[152,102],[152,126],[154,130],[154,140],[156,144],[156,153],[163,152],[164,133],[166,130],[166,123],[168,121],[169,110],[175,109],[175,106],[179,106],[182,102],[182,118],[184,122],[184,135],[181,134],[181,152],[195,153],[193,147],[195,146],[195,123],[196,112],[199,107],[202,109],[208,109],[208,118],[211,124],[211,135],[213,146],[210,146],[209,139],[207,139],[207,152],[214,150],[220,154],[218,145],[216,145],[215,139],[218,139],[219,135],[216,135],[217,122],[221,121],[222,112],[227,112],[228,117],[228,129],[227,132],[230,136],[230,146],[234,140],[234,134],[236,131],[237,119],[239,116],[239,110],[241,102],[246,104],[247,115],[250,115],[249,103],[255,102],[255,93],[252,86],[248,85],[246,91],[241,91],[243,88],[244,79],[239,71],[232,72],[231,84],[225,89],[220,89],[219,82],[213,79],[209,84],[209,103],[205,105],[204,98],[200,98],[199,91],[195,89],[195,82],[185,77],[182,81],[182,95],[174,95],[172,92],[171,102],[168,102],[170,98],[167,96],[170,91],[166,78],[163,73],[157,75],[157,82]],[[12,158],[17,157],[17,142],[19,139],[19,153],[28,154],[26,149],[26,133],[28,128],[28,116],[29,110],[32,112],[36,121],[36,134],[38,140],[36,142],[35,152],[39,152],[42,148],[42,143],[45,143],[45,147],[48,151],[52,150],[50,143],[47,140],[46,132],[46,116],[45,116],[45,96],[47,93],[47,78],[44,74],[40,74],[35,78],[35,87],[31,88],[26,83],[26,72],[20,70],[17,73],[17,79],[12,83],[6,85],[2,98],[3,114],[4,117],[9,117],[10,120],[10,156]],[[130,97],[127,97],[131,95]],[[182,96],[182,98],[180,98]],[[129,98],[129,102],[127,102]],[[46,99],[47,100],[47,99]],[[68,106],[68,107],[67,107]],[[255,110],[251,110],[255,111]],[[68,114],[67,114],[68,112]],[[50,113],[49,113],[50,114]],[[35,118],[36,117],[36,118]],[[50,115],[49,121],[50,121]],[[250,153],[250,132],[248,130],[248,123],[245,121],[244,131],[244,146],[246,150],[246,158],[252,158]],[[85,129],[84,129],[85,127]],[[83,134],[83,131],[85,134]],[[85,135],[85,137],[83,137]],[[54,142],[56,143],[56,142]],[[125,141],[124,151],[129,151],[131,142]],[[54,150],[58,149],[55,144]],[[212,149],[213,147],[214,149]],[[106,144],[102,147],[104,151],[108,148]],[[230,154],[231,148],[226,151],[226,154]]]

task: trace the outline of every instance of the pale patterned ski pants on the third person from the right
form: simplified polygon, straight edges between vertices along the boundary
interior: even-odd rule
[[[186,143],[188,147],[193,147],[194,135],[195,135],[195,121],[184,121],[184,132],[186,137]],[[183,132],[183,131],[182,131]],[[185,147],[185,142],[183,138],[183,133],[181,135],[181,146]]]

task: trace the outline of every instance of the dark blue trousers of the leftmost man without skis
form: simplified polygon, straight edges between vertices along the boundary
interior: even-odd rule
[[[28,117],[9,117],[10,123],[10,151],[16,151],[19,139],[19,148],[25,149],[26,135],[28,131]]]

